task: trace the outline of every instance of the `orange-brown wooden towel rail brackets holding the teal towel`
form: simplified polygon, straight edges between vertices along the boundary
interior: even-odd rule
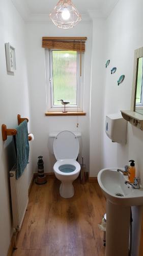
[[[23,122],[24,120],[27,120],[28,122],[28,118],[21,118],[21,116],[18,114],[17,115],[17,121],[18,121],[18,125]],[[17,131],[16,129],[7,129],[7,125],[6,124],[2,124],[2,137],[3,137],[3,141],[7,140],[7,136],[13,136],[16,135]],[[28,140],[31,141],[32,137],[28,136]]]

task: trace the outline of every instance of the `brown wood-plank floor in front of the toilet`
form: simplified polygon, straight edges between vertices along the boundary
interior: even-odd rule
[[[25,218],[13,256],[103,256],[98,223],[105,199],[97,183],[74,182],[75,195],[64,199],[60,182],[48,179],[32,186]]]

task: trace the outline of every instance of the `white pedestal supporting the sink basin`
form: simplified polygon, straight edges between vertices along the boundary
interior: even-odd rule
[[[129,253],[130,206],[106,202],[106,256],[127,256]]]

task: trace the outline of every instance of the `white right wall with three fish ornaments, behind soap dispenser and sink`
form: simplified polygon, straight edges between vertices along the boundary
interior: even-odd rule
[[[143,45],[142,9],[142,0],[120,0],[106,20],[104,62],[110,59],[110,65],[106,69],[104,120],[106,114],[130,109],[134,50]],[[112,67],[117,67],[114,75],[110,75]],[[117,86],[122,74],[125,74],[125,80]],[[143,182],[143,132],[128,123],[127,137],[127,144],[123,146],[112,143],[103,132],[102,167],[122,167],[134,159],[137,175]]]

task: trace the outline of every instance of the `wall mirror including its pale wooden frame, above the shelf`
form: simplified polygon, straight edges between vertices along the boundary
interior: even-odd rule
[[[133,74],[133,111],[143,115],[143,47],[135,50]]]

